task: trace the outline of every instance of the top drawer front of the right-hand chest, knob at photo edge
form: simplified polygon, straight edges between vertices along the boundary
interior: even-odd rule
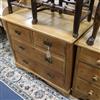
[[[100,68],[100,53],[81,48],[80,60]]]

